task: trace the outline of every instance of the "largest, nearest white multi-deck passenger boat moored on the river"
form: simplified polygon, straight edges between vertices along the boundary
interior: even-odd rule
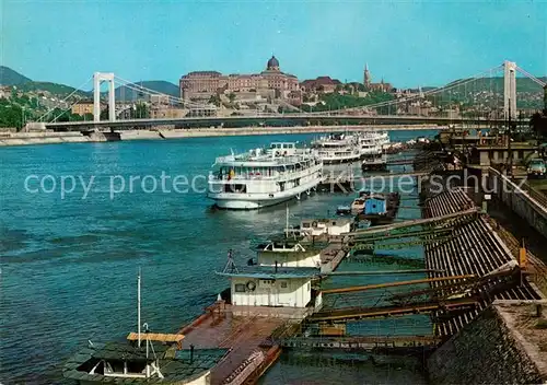
[[[217,158],[208,197],[219,208],[251,210],[310,194],[322,180],[323,162],[311,149],[275,142],[270,149]]]

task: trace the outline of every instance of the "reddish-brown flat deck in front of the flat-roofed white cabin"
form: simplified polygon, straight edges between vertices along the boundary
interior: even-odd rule
[[[229,348],[228,355],[211,371],[211,384],[223,384],[226,378],[252,376],[260,368],[271,364],[268,351],[270,336],[290,319],[301,320],[306,310],[267,306],[232,306],[217,303],[207,315],[181,329],[184,345],[196,349]],[[253,359],[253,357],[259,357]],[[272,360],[271,360],[272,361]]]

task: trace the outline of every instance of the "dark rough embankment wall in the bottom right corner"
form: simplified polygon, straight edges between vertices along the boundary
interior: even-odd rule
[[[538,349],[507,316],[508,306],[521,306],[510,302],[494,302],[433,352],[428,360],[431,384],[547,383]]]

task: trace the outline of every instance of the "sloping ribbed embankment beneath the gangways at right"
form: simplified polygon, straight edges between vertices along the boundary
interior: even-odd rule
[[[424,218],[451,215],[464,212],[474,207],[474,202],[461,188],[452,188],[430,196],[426,200]],[[481,278],[494,276],[510,264],[516,265],[516,258],[505,243],[492,229],[485,215],[466,218],[461,215],[453,222],[453,233],[449,240],[440,240],[435,234],[424,244],[426,267],[439,270],[430,272],[429,278],[450,277],[456,275],[475,275]],[[517,277],[522,277],[521,273]],[[461,295],[462,289],[443,290],[432,281],[432,289],[438,289],[443,296]],[[442,313],[433,313],[435,335],[446,338],[456,334],[466,324],[494,300],[537,300],[539,293],[526,279],[499,278],[490,280],[488,285],[478,285],[474,291],[481,298],[475,308],[467,310],[453,317],[443,317]],[[464,292],[464,295],[467,295]]]

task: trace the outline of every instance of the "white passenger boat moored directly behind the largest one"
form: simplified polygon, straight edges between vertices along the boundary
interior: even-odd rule
[[[312,148],[325,164],[356,162],[361,158],[359,139],[354,135],[330,133],[312,141]]]

